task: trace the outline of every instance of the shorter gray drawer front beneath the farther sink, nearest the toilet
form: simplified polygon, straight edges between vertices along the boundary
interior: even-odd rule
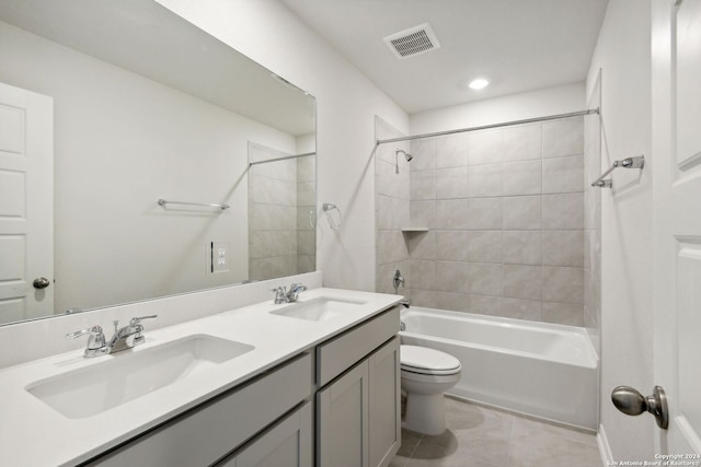
[[[399,307],[317,347],[317,384],[325,385],[399,332]]]

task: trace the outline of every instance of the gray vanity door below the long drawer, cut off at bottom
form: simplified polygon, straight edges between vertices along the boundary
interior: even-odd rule
[[[311,402],[307,402],[217,467],[311,467],[312,459]]]

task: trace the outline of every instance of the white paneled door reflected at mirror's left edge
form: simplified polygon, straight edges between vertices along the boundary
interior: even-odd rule
[[[54,313],[53,115],[50,97],[0,83],[0,324]]]

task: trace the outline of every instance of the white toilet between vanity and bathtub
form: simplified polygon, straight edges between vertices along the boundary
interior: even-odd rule
[[[406,392],[403,427],[437,435],[446,431],[443,393],[460,381],[460,361],[448,353],[418,346],[401,346],[402,389]]]

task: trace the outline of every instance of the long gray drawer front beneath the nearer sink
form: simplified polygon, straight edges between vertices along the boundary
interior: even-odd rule
[[[306,353],[89,465],[211,465],[309,397],[311,371]]]

